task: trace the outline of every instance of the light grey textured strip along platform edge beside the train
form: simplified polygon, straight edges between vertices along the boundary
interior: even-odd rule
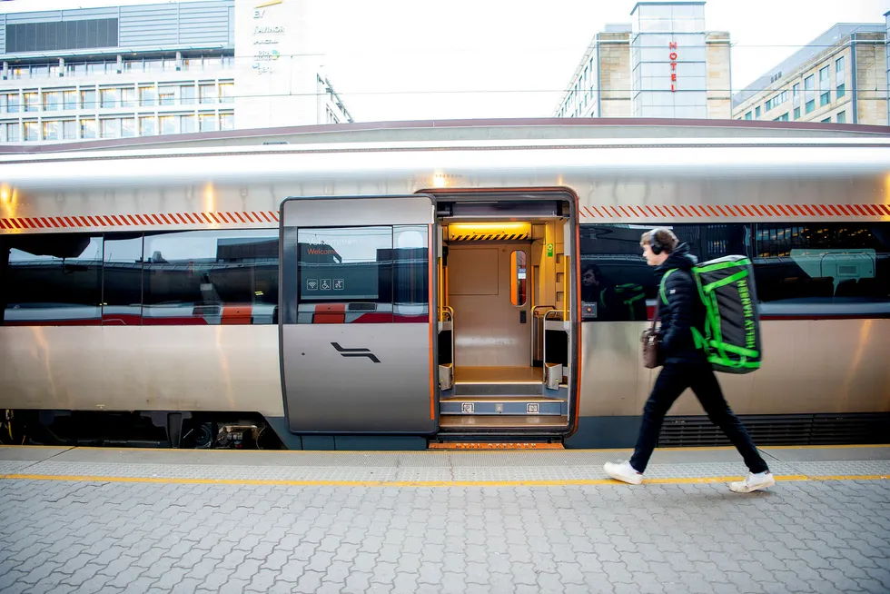
[[[875,457],[870,449],[868,458]],[[822,461],[779,461],[766,457],[782,476],[888,476],[885,460],[856,460],[855,449],[837,450]],[[48,460],[0,460],[0,475],[108,477],[148,480],[257,480],[283,482],[541,482],[605,480],[603,462],[627,459],[629,450],[523,450],[420,452],[250,452],[166,450],[156,455],[131,450],[70,450]],[[817,453],[817,452],[816,452]],[[818,458],[809,453],[806,458]],[[115,460],[115,461],[110,461]],[[126,461],[129,460],[129,461]],[[272,464],[277,461],[277,464]],[[214,463],[215,462],[215,463]],[[237,462],[237,463],[233,463]],[[649,480],[696,480],[747,472],[733,449],[658,450],[646,471]]]

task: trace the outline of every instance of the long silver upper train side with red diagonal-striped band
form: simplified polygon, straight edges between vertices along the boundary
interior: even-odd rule
[[[57,162],[41,157],[0,165],[8,222],[2,226],[5,233],[49,233],[57,231],[52,222],[12,220],[88,215],[115,218],[54,223],[78,231],[84,224],[128,231],[273,226],[288,195],[417,193],[435,187],[567,187],[578,194],[580,223],[890,220],[890,211],[880,207],[890,192],[886,143],[776,142],[542,148],[512,141],[475,150],[424,144],[375,145],[366,152],[327,146],[324,152],[300,147],[203,156],[78,154]],[[862,208],[818,207],[829,204]],[[152,216],[159,213],[164,216]]]

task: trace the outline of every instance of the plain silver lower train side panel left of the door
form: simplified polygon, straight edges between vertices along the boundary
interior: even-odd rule
[[[0,408],[283,418],[277,328],[0,327]]]

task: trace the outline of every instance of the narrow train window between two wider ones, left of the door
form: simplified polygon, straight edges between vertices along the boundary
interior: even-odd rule
[[[102,323],[138,326],[142,323],[142,233],[105,236],[102,282]]]

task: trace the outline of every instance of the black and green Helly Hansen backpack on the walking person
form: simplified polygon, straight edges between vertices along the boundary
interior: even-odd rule
[[[667,304],[661,278],[661,301]],[[705,306],[705,332],[692,329],[696,347],[707,354],[714,371],[750,373],[760,369],[760,315],[754,267],[746,256],[726,256],[692,267],[698,297]]]

